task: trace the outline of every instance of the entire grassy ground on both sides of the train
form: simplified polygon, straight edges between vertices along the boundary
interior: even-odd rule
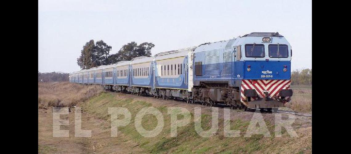
[[[223,135],[224,108],[218,108],[219,128],[212,132],[210,137],[203,138],[194,129],[194,107],[201,107],[201,127],[204,130],[209,130],[212,126],[211,107],[152,97],[101,92],[102,90],[87,92],[89,91],[87,89],[94,88],[98,87],[67,82],[38,83],[38,99],[41,99],[40,104],[46,105],[45,107],[38,105],[38,153],[312,153],[312,120],[307,117],[296,117],[292,127],[297,137],[290,137],[284,128],[282,137],[276,137],[274,114],[263,113],[261,115],[270,137],[263,135],[244,137],[254,113],[231,110],[230,128],[241,132],[240,137],[229,138]],[[294,91],[292,99],[295,101],[292,101],[290,108],[300,112],[312,112],[312,88],[296,86],[292,89]],[[75,96],[78,98],[74,98]],[[60,116],[60,119],[69,120],[69,125],[60,126],[60,129],[69,130],[69,137],[53,137],[53,110],[47,103],[50,100],[60,100],[56,101],[59,103],[54,103],[56,105],[60,105],[63,101],[67,102],[65,106],[74,104],[82,107],[82,129],[92,130],[92,136],[74,137],[75,111],[72,108],[72,112]],[[111,116],[107,112],[108,107],[125,107],[132,115],[128,125],[118,128],[116,138],[111,137]],[[154,138],[145,138],[135,129],[134,117],[143,107],[155,107],[164,117],[164,127]],[[167,114],[167,107],[184,107],[191,113],[190,123],[178,128],[177,137],[170,137],[171,118]],[[141,124],[145,129],[151,130],[157,125],[157,119],[147,114]]]

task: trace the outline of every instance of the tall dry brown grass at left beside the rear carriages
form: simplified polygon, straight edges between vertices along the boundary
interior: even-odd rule
[[[38,82],[38,108],[71,107],[86,101],[104,89],[99,85],[69,82]]]

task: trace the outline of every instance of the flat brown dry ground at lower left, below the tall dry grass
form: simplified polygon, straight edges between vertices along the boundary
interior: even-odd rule
[[[92,137],[74,137],[74,111],[62,114],[60,119],[68,119],[68,126],[60,126],[61,130],[69,130],[69,137],[53,137],[52,108],[38,109],[38,153],[140,153],[128,136],[119,132],[118,139],[111,138],[110,123],[96,119],[88,113],[82,113],[82,129],[91,130]]]

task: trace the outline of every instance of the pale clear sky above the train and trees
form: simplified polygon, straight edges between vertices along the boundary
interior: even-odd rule
[[[312,68],[309,0],[39,0],[38,71],[79,71],[91,39],[112,46],[110,54],[152,42],[155,55],[251,32],[279,32],[292,46],[291,68]]]

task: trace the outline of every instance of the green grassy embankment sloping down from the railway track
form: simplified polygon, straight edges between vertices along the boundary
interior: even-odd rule
[[[144,149],[146,153],[300,153],[311,152],[311,127],[299,128],[296,130],[299,137],[290,137],[283,128],[283,135],[280,138],[274,137],[274,124],[266,121],[272,137],[253,135],[251,138],[244,138],[244,133],[250,121],[237,119],[231,121],[231,129],[241,130],[241,137],[228,138],[223,136],[223,119],[219,119],[219,130],[210,138],[203,138],[198,135],[194,128],[194,114],[191,112],[191,121],[188,125],[177,129],[177,137],[170,137],[170,115],[167,114],[165,106],[156,107],[164,117],[164,128],[154,138],[141,136],[134,126],[135,115],[143,107],[151,107],[152,103],[133,100],[131,97],[123,98],[123,95],[101,93],[92,99],[79,103],[84,112],[93,114],[95,117],[110,121],[108,107],[125,107],[132,115],[131,122],[124,127],[118,127],[118,135],[128,136],[137,142],[137,147]],[[119,118],[120,119],[120,118]],[[178,119],[182,119],[178,117]],[[152,130],[157,125],[154,115],[147,114],[141,121],[146,130]],[[201,115],[201,127],[208,130],[211,127],[211,115]],[[106,128],[110,129],[110,128]],[[123,138],[116,138],[121,140]],[[125,140],[126,144],[128,140]],[[307,149],[307,151],[305,150]]]

